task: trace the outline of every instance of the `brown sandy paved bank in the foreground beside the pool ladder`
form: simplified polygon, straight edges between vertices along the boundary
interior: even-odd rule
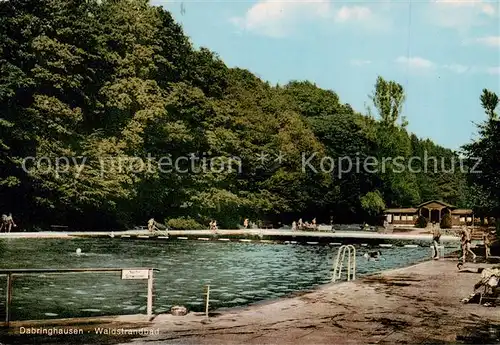
[[[462,304],[480,274],[460,273],[456,259],[426,260],[351,282],[324,284],[293,297],[204,316],[162,314],[158,336],[133,344],[457,343],[467,327],[500,329],[495,308]],[[469,268],[491,267],[468,264]],[[237,331],[235,331],[237,329]],[[480,333],[480,332],[479,332]]]

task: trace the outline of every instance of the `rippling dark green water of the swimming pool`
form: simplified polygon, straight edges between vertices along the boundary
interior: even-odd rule
[[[76,254],[77,248],[82,251]],[[429,247],[357,247],[357,275],[407,266]],[[277,298],[328,283],[338,247],[241,242],[109,239],[2,239],[0,268],[152,267],[154,313],[173,305],[204,310]],[[385,260],[363,254],[380,250]],[[5,311],[0,276],[0,313]],[[146,313],[147,281],[115,273],[34,274],[13,280],[12,320]]]

